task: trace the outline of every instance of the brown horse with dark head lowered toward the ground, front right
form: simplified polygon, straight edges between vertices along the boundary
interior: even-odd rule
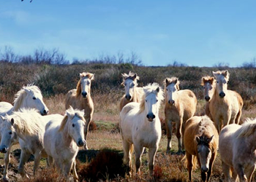
[[[192,168],[197,162],[201,168],[202,181],[210,181],[212,167],[217,157],[219,135],[208,116],[192,116],[187,120],[184,131],[189,181],[192,182]]]

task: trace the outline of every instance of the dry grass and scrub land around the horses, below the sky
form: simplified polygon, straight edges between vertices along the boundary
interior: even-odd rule
[[[197,115],[204,114],[205,100],[200,86],[202,76],[212,75],[212,71],[228,69],[230,90],[236,90],[244,99],[241,121],[247,117],[256,117],[256,76],[255,68],[199,68],[199,67],[146,67],[131,64],[102,64],[90,63],[82,65],[45,65],[19,64],[0,62],[0,101],[12,103],[13,97],[23,85],[34,83],[44,95],[45,104],[50,114],[64,114],[64,95],[75,88],[79,76],[83,71],[95,74],[91,82],[91,95],[94,100],[94,115],[91,131],[88,135],[88,151],[80,149],[78,154],[78,175],[80,181],[188,181],[187,169],[181,159],[184,155],[177,155],[177,139],[173,135],[171,154],[166,154],[167,137],[165,128],[155,159],[154,177],[148,175],[147,155],[143,154],[141,175],[129,177],[125,175],[127,168],[121,164],[122,144],[118,130],[118,104],[124,94],[121,84],[121,74],[133,71],[140,76],[139,86],[157,82],[162,85],[166,77],[177,76],[181,81],[181,89],[189,89],[197,96]],[[159,116],[164,119],[164,106],[160,108]],[[18,174],[19,146],[12,149],[10,162],[10,181],[25,181]],[[3,154],[0,154],[0,178],[4,170]],[[46,167],[46,160],[42,159],[37,176],[32,175],[33,159],[26,165],[29,173],[28,181],[62,181],[56,170]],[[194,181],[200,181],[200,170],[193,173]],[[214,163],[211,181],[223,181],[222,167],[217,157]],[[253,181],[256,181],[255,175]]]

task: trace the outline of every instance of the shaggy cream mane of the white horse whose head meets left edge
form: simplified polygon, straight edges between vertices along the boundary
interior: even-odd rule
[[[7,121],[12,127],[11,119],[14,119],[15,129],[22,135],[37,135],[44,130],[42,126],[42,116],[34,108],[21,108],[20,111],[14,111],[7,115]]]

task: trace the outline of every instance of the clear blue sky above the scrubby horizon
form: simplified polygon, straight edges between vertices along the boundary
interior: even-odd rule
[[[236,67],[256,57],[255,0],[29,1],[1,1],[1,50],[59,48],[68,60],[135,52],[145,66]]]

